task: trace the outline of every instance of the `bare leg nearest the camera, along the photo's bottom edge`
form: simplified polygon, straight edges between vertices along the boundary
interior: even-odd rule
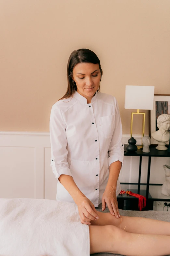
[[[134,234],[113,225],[89,226],[90,254],[109,252],[128,256],[170,255],[170,236]]]

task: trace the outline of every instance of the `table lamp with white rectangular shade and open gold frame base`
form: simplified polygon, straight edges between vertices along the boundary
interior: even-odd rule
[[[133,115],[143,115],[143,136],[145,132],[145,113],[139,112],[140,109],[153,110],[154,86],[126,85],[125,90],[125,109],[137,109],[131,114],[131,138],[133,127]],[[141,149],[143,145],[137,146]]]

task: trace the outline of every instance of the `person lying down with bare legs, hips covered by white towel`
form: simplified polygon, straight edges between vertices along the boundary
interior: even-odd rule
[[[96,213],[86,225],[74,203],[0,198],[0,256],[170,255],[169,222]]]

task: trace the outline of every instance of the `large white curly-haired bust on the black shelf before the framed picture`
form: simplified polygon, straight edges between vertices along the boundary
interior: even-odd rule
[[[170,129],[170,115],[162,114],[158,116],[157,126],[158,131],[154,131],[151,136],[158,142],[156,149],[167,150],[165,142],[169,141],[169,129]]]

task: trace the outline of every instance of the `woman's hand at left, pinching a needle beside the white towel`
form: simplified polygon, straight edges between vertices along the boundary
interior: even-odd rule
[[[99,219],[94,205],[86,196],[80,197],[76,204],[78,206],[81,223],[91,225],[90,221]]]

